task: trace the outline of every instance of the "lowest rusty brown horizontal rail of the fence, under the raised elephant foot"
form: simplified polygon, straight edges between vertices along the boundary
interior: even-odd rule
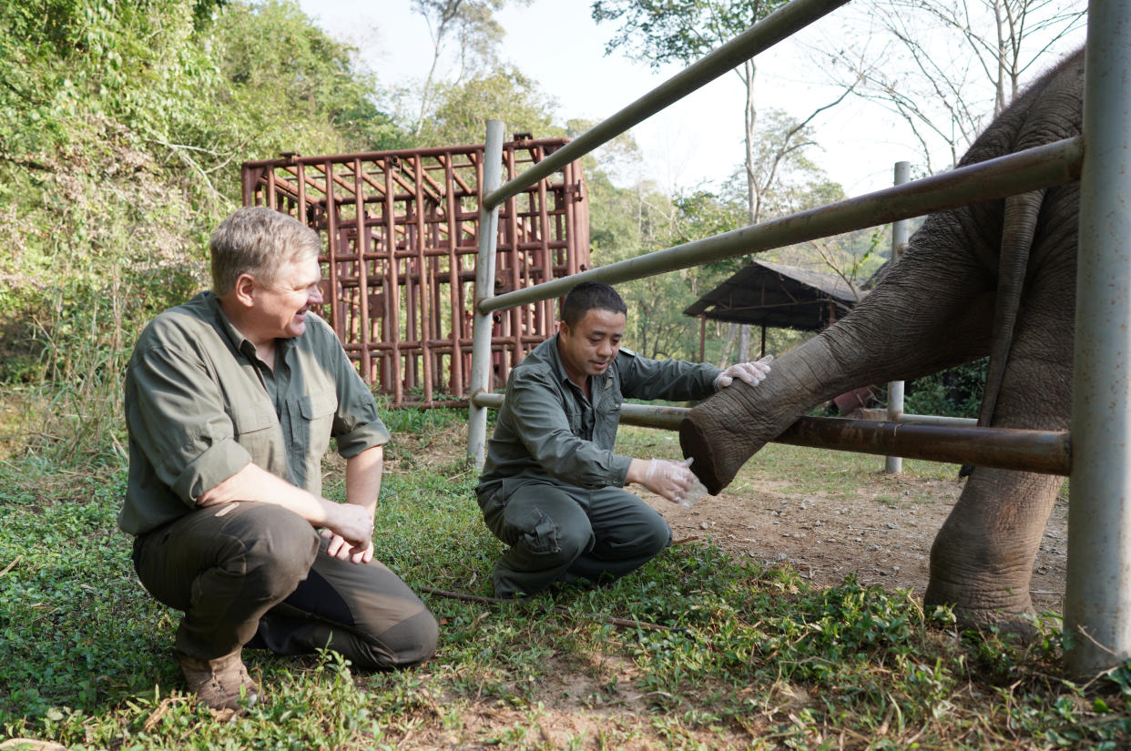
[[[472,402],[498,409],[503,396],[476,394]],[[677,430],[688,412],[687,407],[625,404],[621,423]],[[1072,468],[1068,431],[801,417],[774,442],[1050,475],[1068,475]]]

